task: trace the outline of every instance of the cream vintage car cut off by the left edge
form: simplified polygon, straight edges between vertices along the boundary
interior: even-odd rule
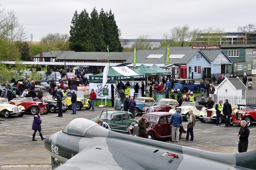
[[[0,114],[4,115],[5,118],[10,118],[13,114],[21,117],[24,115],[24,110],[23,106],[9,104],[6,98],[0,98]]]

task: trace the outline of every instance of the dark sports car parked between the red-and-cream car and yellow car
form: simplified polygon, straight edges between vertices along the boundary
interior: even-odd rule
[[[39,98],[34,98],[34,101],[42,101],[45,103],[48,103],[48,108],[49,108],[49,112],[51,113],[55,113],[56,110],[58,110],[58,105],[57,105],[57,101],[53,100],[53,98],[51,96],[45,96],[43,97],[41,100]],[[62,112],[66,112],[68,110],[68,104],[65,102],[62,102]]]

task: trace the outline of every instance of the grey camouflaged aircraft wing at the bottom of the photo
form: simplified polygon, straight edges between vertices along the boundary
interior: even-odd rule
[[[87,147],[55,170],[144,170],[123,153],[109,149],[100,145]]]

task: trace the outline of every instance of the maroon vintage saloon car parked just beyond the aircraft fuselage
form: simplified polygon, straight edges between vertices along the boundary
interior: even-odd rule
[[[146,134],[149,139],[156,139],[156,138],[167,138],[171,137],[171,126],[170,126],[170,118],[172,113],[169,112],[152,112],[146,114]],[[142,118],[140,118],[142,119]],[[137,120],[139,122],[139,119]],[[138,136],[138,125],[134,125],[135,136]],[[179,139],[181,139],[182,133],[187,133],[183,125],[180,125],[179,131]]]

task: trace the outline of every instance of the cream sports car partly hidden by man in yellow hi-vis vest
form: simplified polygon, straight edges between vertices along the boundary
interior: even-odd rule
[[[206,107],[202,108],[202,111],[200,112],[200,121],[204,123],[205,121],[216,121],[216,110],[215,110],[216,103],[213,105],[212,109],[207,109]],[[232,112],[237,109],[236,106],[232,106]],[[223,109],[223,105],[222,105]],[[219,116],[219,124],[224,121],[224,114],[223,112],[220,113]]]

